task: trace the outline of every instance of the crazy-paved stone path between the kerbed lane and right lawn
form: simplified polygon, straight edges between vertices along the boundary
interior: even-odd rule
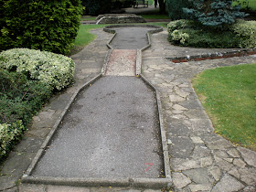
[[[191,79],[205,69],[256,63],[256,55],[175,63],[168,58],[236,49],[181,48],[166,38],[166,31],[151,36],[152,47],[143,53],[143,71],[162,96],[175,191],[255,190],[256,152],[214,133]]]

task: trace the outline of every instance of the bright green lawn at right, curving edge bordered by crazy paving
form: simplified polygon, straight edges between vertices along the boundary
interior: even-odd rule
[[[215,132],[256,151],[256,64],[208,69],[192,83]]]

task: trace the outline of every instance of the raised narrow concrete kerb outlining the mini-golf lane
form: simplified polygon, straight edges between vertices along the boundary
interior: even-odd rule
[[[119,25],[130,27],[131,25]],[[134,27],[137,27],[137,25],[133,25]],[[151,25],[146,25],[143,27],[155,27]],[[116,26],[115,26],[116,27]],[[162,31],[163,27],[159,27],[157,29],[150,30],[151,33],[156,33],[159,31]],[[104,30],[105,31],[105,30]],[[113,30],[110,29],[107,32],[112,32]],[[113,36],[114,37],[114,36]],[[112,37],[112,39],[113,39]],[[26,173],[22,176],[22,182],[24,183],[32,183],[32,184],[49,184],[49,185],[64,185],[64,186],[80,186],[80,187],[150,187],[150,188],[162,188],[162,187],[171,187],[173,184],[172,178],[171,178],[171,171],[170,171],[170,162],[169,162],[169,155],[168,155],[168,147],[167,147],[167,140],[166,140],[166,131],[164,127],[164,118],[163,118],[163,112],[162,112],[162,105],[160,100],[159,92],[155,89],[155,87],[144,78],[144,76],[141,74],[141,63],[142,63],[142,51],[146,48],[149,48],[151,46],[150,36],[149,33],[147,33],[147,37],[149,40],[149,45],[138,49],[137,53],[139,53],[139,56],[136,58],[136,65],[138,65],[138,68],[136,67],[136,75],[139,76],[146,84],[148,84],[154,91],[156,96],[156,104],[157,104],[157,111],[158,111],[158,117],[159,117],[159,127],[161,132],[161,140],[162,140],[162,148],[164,152],[164,165],[165,165],[165,178],[112,178],[112,179],[106,179],[106,178],[64,178],[64,177],[51,177],[51,176],[31,176],[33,170],[36,168],[38,161],[42,157],[42,155],[45,152],[45,149],[47,148],[48,144],[50,143],[50,140],[52,139],[54,133],[59,128],[59,124],[62,122],[64,116],[69,111],[69,107],[75,101],[77,95],[80,93],[80,91],[86,89],[87,87],[91,86],[91,84],[99,79],[101,79],[102,75],[105,72],[106,63],[109,61],[111,53],[112,53],[112,47],[109,45],[109,48],[111,50],[108,52],[106,59],[104,60],[104,65],[101,69],[101,73],[93,78],[92,80],[86,82],[84,85],[82,85],[77,91],[73,93],[73,96],[70,98],[69,103],[67,104],[64,111],[60,114],[59,120],[54,124],[53,128],[51,129],[50,133],[48,133],[48,136],[44,143],[41,145],[40,149],[37,151],[37,155],[32,160],[31,164],[28,166]],[[139,58],[140,57],[140,58]],[[138,60],[138,61],[137,61]]]

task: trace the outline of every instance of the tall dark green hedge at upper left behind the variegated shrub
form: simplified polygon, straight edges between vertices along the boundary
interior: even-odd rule
[[[35,48],[67,55],[81,10],[80,0],[0,0],[0,50]]]

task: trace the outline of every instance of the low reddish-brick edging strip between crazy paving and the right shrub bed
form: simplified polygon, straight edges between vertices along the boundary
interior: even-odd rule
[[[201,54],[197,56],[189,56],[186,57],[175,57],[175,58],[165,58],[174,63],[187,62],[190,60],[206,60],[206,59],[225,59],[225,58],[233,58],[233,57],[242,57],[256,54],[256,49],[241,49],[241,50],[231,50],[226,52],[215,52],[208,54]]]

